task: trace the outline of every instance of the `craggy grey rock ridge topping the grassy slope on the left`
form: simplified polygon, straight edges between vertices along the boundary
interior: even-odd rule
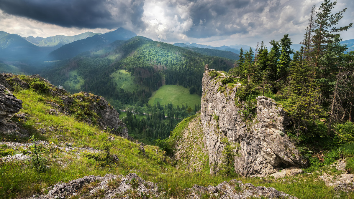
[[[96,124],[103,130],[106,130],[107,127],[109,127],[110,129],[114,129],[112,132],[119,134],[122,137],[128,137],[125,124],[119,119],[119,113],[110,106],[102,96],[89,94],[87,92],[70,95],[64,89],[55,88],[49,81],[39,75],[20,78],[18,75],[0,74],[0,124],[8,121],[19,111],[19,109],[21,109],[22,101],[16,99],[14,95],[10,94],[10,91],[14,90],[16,87],[22,89],[29,88],[29,83],[34,78],[38,78],[40,81],[46,82],[47,85],[50,85],[48,94],[61,99],[60,103],[57,104],[52,101],[47,101],[47,103],[53,107],[53,109],[48,111],[49,114],[73,115],[75,110],[80,110],[82,112],[90,110],[89,112],[94,113],[94,116],[92,116],[94,118],[86,117],[85,119],[79,119],[84,120],[89,124]],[[85,101],[85,103],[78,105],[77,100]],[[88,107],[87,104],[89,104]],[[3,131],[12,131],[12,128],[17,128],[17,125],[7,125],[6,129],[4,127]],[[19,136],[22,137],[22,135]]]

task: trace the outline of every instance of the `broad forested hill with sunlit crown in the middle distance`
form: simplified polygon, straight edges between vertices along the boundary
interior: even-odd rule
[[[55,63],[42,76],[74,92],[85,90],[122,104],[145,104],[163,84],[195,87],[201,95],[204,65],[227,71],[234,60],[202,55],[189,49],[137,36],[95,48],[85,55]],[[121,70],[130,72],[132,88],[124,89]]]

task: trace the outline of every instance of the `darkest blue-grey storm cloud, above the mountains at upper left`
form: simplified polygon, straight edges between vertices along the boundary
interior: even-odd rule
[[[0,0],[8,14],[62,27],[143,29],[143,0]]]

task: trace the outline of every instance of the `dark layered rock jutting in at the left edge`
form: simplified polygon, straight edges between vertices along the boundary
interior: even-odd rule
[[[17,99],[0,84],[0,123],[7,123],[21,108],[22,100]]]

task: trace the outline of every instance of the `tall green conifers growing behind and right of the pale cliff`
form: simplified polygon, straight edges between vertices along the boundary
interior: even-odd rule
[[[340,32],[352,24],[336,27],[346,9],[331,13],[335,4],[325,0],[317,12],[312,8],[301,49],[291,49],[289,35],[272,40],[270,51],[262,41],[255,52],[241,49],[230,70],[244,78],[236,93],[240,99],[273,95],[290,113],[289,134],[324,146],[354,141],[354,131],[348,130],[354,127],[354,52],[344,54],[347,48],[339,43]],[[347,130],[338,129],[343,123]]]

